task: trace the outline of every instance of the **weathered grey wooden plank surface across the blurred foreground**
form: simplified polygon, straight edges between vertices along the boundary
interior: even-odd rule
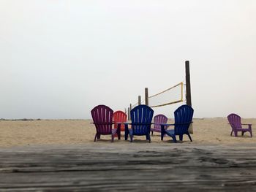
[[[256,146],[6,148],[0,191],[256,191]]]

